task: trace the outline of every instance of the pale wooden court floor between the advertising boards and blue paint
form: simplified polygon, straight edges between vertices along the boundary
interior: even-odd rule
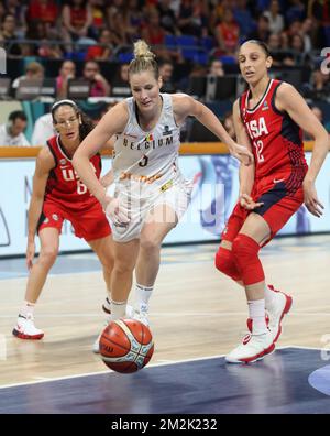
[[[217,244],[163,249],[151,302],[151,364],[224,355],[246,333],[243,292],[215,269],[216,250]],[[105,319],[105,285],[100,271],[80,271],[77,259],[84,258],[95,263],[92,254],[65,255],[65,273],[48,277],[35,310],[45,330],[41,341],[11,335],[26,279],[18,271],[18,277],[0,280],[0,386],[107,370],[91,352]],[[276,239],[262,260],[267,283],[294,296],[278,346],[329,349],[330,236]]]

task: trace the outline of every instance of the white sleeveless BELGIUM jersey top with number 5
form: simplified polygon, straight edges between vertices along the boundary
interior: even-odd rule
[[[129,121],[114,143],[112,163],[114,181],[136,181],[164,186],[182,178],[178,168],[179,127],[173,115],[172,96],[161,94],[163,108],[157,124],[151,131],[141,129],[133,98],[125,101]]]

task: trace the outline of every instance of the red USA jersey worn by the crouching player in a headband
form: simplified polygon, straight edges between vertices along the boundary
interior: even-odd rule
[[[45,201],[54,201],[68,210],[86,210],[98,203],[77,175],[59,137],[51,138],[47,145],[54,156],[55,167],[47,179]],[[101,156],[99,154],[92,156],[90,164],[96,176],[100,178]]]

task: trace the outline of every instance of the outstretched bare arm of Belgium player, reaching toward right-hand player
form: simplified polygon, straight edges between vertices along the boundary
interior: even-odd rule
[[[233,156],[246,165],[250,165],[253,162],[251,151],[248,150],[246,146],[238,144],[228,134],[216,115],[205,105],[186,94],[176,94],[173,96],[173,108],[178,124],[184,122],[186,117],[194,116],[228,145],[228,149]]]

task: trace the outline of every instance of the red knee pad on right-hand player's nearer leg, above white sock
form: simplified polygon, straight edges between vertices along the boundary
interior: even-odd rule
[[[264,270],[258,259],[260,244],[246,235],[239,235],[232,243],[232,254],[244,285],[263,282]]]

